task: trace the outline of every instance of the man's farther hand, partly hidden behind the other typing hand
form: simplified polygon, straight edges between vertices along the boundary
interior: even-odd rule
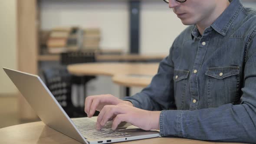
[[[85,98],[85,113],[91,118],[95,111],[101,111],[105,105],[132,105],[130,101],[123,101],[113,95],[93,95]]]

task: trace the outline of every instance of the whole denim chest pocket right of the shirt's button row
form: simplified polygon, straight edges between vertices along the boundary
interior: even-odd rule
[[[240,67],[209,67],[207,75],[208,107],[219,107],[239,101]]]

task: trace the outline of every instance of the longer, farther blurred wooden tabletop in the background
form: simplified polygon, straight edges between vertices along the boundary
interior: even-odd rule
[[[159,63],[120,63],[94,62],[68,65],[68,70],[74,75],[155,75]]]

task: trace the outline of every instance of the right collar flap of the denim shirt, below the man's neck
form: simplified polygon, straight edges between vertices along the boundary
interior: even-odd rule
[[[224,10],[224,12],[215,20],[211,27],[220,33],[223,36],[226,36],[226,32],[230,27],[233,20],[236,19],[236,16],[242,10],[243,5],[240,3],[240,0],[230,0],[229,7]]]

